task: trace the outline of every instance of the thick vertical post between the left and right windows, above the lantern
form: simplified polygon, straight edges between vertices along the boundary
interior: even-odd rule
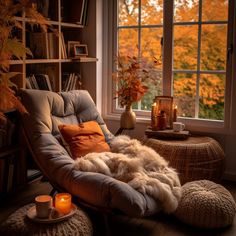
[[[163,95],[172,95],[173,0],[164,1],[163,11]]]

